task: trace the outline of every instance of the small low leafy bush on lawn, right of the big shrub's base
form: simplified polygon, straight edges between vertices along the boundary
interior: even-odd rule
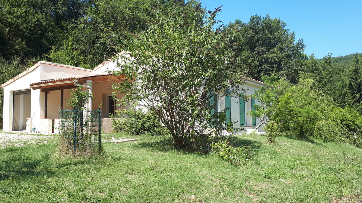
[[[212,150],[222,159],[231,161],[235,165],[240,165],[244,160],[251,159],[253,148],[251,146],[234,147],[227,140],[211,144]]]

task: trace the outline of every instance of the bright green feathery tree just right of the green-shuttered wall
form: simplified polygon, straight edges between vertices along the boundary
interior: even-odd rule
[[[330,122],[329,112],[336,106],[315,86],[312,79],[301,79],[291,85],[282,78],[256,91],[253,96],[261,100],[261,105],[255,105],[254,114],[267,127],[276,124],[273,128],[279,132],[291,132],[300,138],[318,134],[317,124]]]

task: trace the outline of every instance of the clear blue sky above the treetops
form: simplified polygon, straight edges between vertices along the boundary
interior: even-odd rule
[[[208,10],[223,5],[217,20],[224,24],[236,19],[249,21],[252,15],[280,17],[287,29],[302,38],[304,53],[320,59],[328,52],[345,56],[362,52],[362,1],[237,1],[201,0]]]

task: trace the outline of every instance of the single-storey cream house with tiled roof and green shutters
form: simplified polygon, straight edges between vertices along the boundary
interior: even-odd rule
[[[109,113],[114,114],[115,110],[120,108],[130,108],[130,106],[115,107],[114,105],[111,86],[112,83],[120,82],[122,76],[115,77],[109,72],[116,68],[116,63],[111,59],[102,62],[93,70],[39,61],[0,86],[4,89],[3,131],[26,130],[51,134],[56,128],[53,122],[57,122],[59,110],[71,109],[67,105],[70,89],[82,86],[83,91],[92,91],[94,96],[94,99],[87,103],[87,108],[96,109],[100,106],[102,129],[110,132],[112,129]],[[250,95],[265,85],[252,78],[245,77],[245,80],[247,101],[225,97],[220,98],[217,105],[218,110],[227,108],[227,116],[232,121],[236,121],[236,124],[233,124],[235,128],[246,130],[240,130],[237,133],[249,133],[258,124],[258,120],[247,113],[257,102],[250,98]],[[92,88],[87,87],[89,84]],[[121,96],[117,95],[118,98]],[[28,128],[26,128],[27,122]]]

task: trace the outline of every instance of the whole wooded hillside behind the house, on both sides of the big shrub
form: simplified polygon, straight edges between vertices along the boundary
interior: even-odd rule
[[[156,10],[167,16],[176,7],[186,22],[201,21],[194,13],[206,11],[195,0],[0,0],[0,5],[0,83],[39,60],[93,68],[117,48],[126,48],[130,33],[146,30]],[[295,39],[280,18],[235,18],[220,29],[232,36],[223,46],[234,51],[245,75],[286,78],[291,84],[313,79],[313,89],[337,107],[362,112],[361,53],[332,57],[326,50],[323,59],[316,59],[304,53],[303,40]],[[2,101],[2,91],[0,96]]]

